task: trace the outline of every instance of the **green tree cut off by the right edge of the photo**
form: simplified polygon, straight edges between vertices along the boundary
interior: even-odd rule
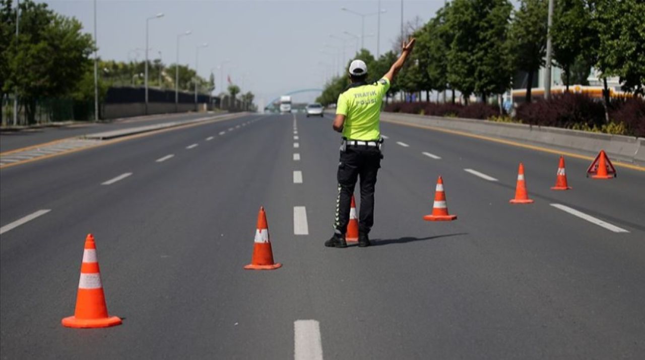
[[[597,68],[605,79],[619,76],[624,90],[644,94],[645,2],[596,0],[595,6],[594,25],[599,32]]]

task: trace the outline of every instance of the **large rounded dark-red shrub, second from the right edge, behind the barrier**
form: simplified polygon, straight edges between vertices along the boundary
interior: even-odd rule
[[[521,104],[516,114],[515,118],[526,124],[558,128],[572,128],[574,124],[600,128],[605,123],[602,101],[573,93]]]

